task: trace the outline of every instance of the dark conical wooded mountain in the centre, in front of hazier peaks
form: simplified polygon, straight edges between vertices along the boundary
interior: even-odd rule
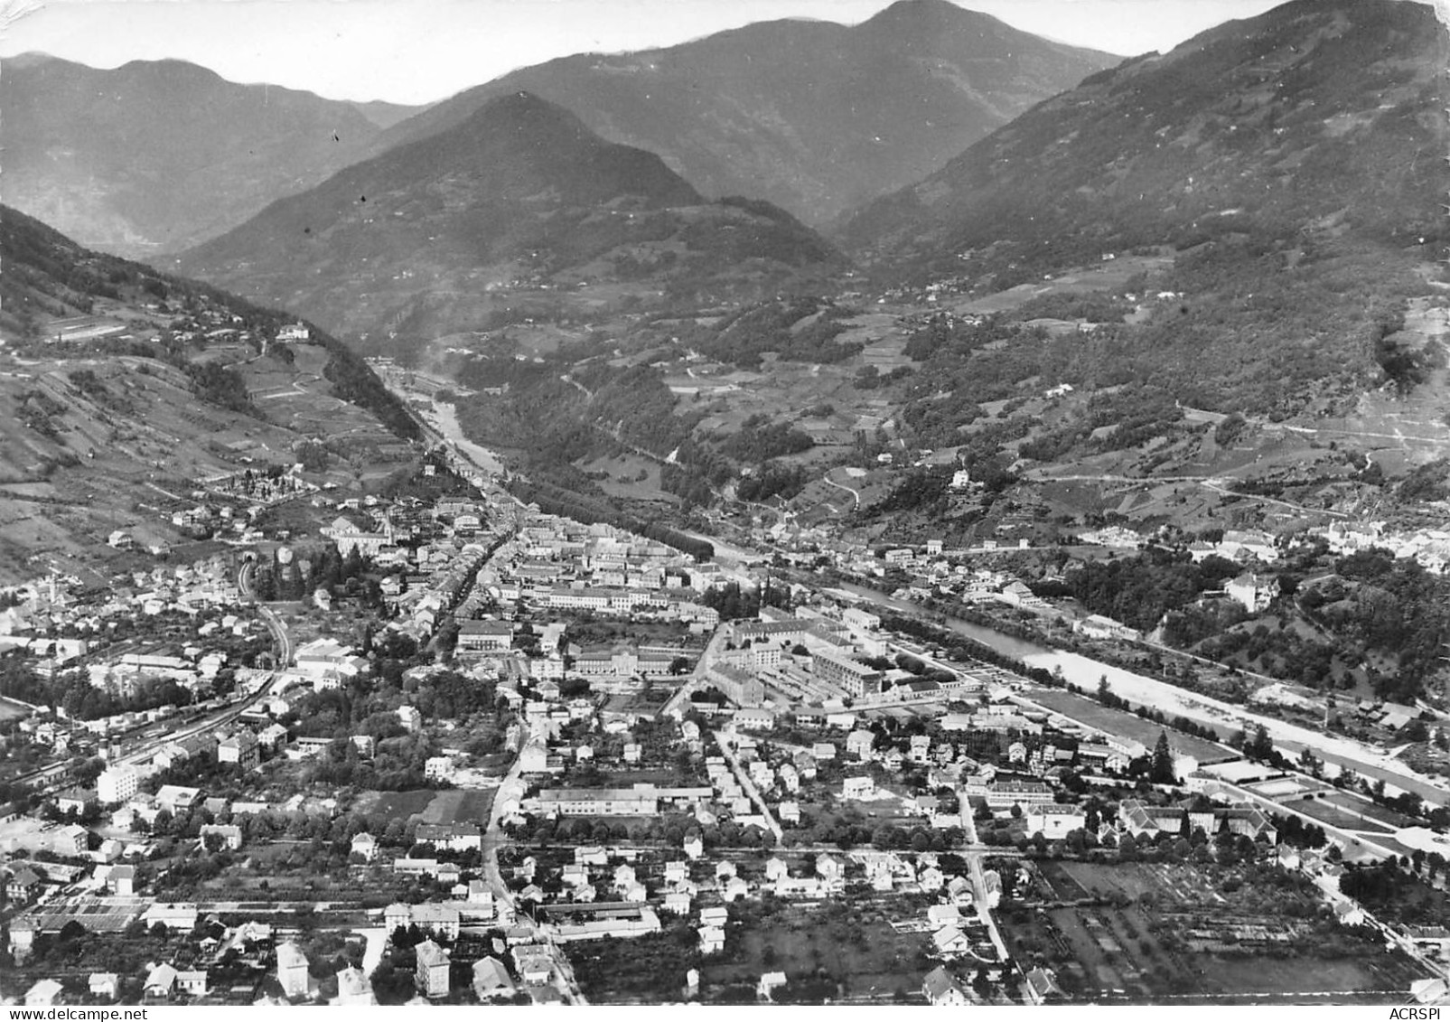
[[[329,329],[434,335],[624,294],[690,300],[815,284],[844,259],[758,200],[708,202],[652,152],[529,93],[281,199],[177,262]]]

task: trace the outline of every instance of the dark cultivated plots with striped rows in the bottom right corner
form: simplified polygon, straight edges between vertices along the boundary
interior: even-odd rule
[[[1272,865],[1041,863],[1002,912],[1019,964],[1067,1000],[1386,1003],[1424,970],[1337,926],[1308,881]]]

